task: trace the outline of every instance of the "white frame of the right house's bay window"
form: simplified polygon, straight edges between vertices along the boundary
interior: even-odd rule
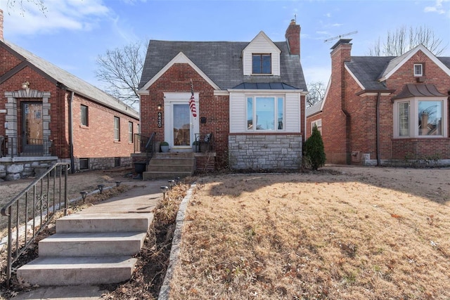
[[[438,135],[419,135],[419,128],[418,128],[418,122],[419,122],[419,109],[418,105],[421,101],[430,101],[430,102],[441,102],[441,115],[442,115],[442,131],[439,136]],[[399,134],[399,103],[409,103],[409,135],[400,136]],[[397,99],[394,100],[394,109],[393,109],[393,136],[394,138],[445,138],[448,137],[447,129],[449,124],[449,116],[448,116],[448,100],[446,97],[426,97],[426,98],[420,98],[420,97],[411,97],[411,98],[404,98],[404,99]]]

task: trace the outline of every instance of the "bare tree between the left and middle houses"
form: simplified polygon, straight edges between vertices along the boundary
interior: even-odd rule
[[[128,105],[139,103],[137,91],[146,51],[144,45],[146,43],[138,41],[108,50],[97,58],[96,77],[108,85],[108,93]]]

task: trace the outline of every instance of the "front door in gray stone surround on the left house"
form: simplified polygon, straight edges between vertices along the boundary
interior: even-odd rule
[[[43,151],[42,103],[23,103],[23,152]]]

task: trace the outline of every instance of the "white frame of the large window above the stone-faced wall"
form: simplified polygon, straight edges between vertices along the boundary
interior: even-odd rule
[[[248,128],[248,99],[252,98],[252,128],[249,129]],[[274,129],[257,129],[257,126],[255,126],[256,124],[256,120],[257,120],[257,115],[256,115],[256,104],[257,104],[257,99],[258,98],[274,98]],[[282,118],[282,124],[283,124],[283,128],[282,129],[278,129],[278,100],[283,100],[283,118]],[[245,128],[247,132],[283,132],[286,130],[286,99],[285,96],[281,96],[281,95],[263,95],[263,94],[253,94],[253,95],[246,95],[245,96],[245,122],[247,124],[245,124]]]

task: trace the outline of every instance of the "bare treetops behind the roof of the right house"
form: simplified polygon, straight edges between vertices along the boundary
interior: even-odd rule
[[[423,44],[435,56],[442,54],[446,46],[442,46],[442,39],[436,37],[426,25],[416,28],[398,27],[395,31],[388,31],[385,41],[378,37],[378,41],[368,49],[369,56],[401,56],[418,44]]]

